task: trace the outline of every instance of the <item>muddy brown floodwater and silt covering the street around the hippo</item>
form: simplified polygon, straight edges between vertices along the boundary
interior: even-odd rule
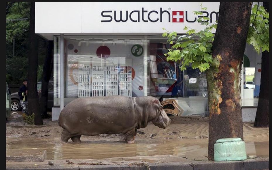
[[[6,156],[46,150],[49,160],[148,157],[147,161],[152,162],[153,158],[156,161],[155,155],[208,160],[208,127],[208,118],[173,117],[166,129],[152,123],[139,129],[134,144],[125,143],[122,134],[82,136],[81,143],[73,143],[71,139],[63,143],[62,128],[57,121],[44,119],[44,125],[27,125],[21,113],[15,112],[6,123]],[[269,128],[254,128],[253,124],[245,123],[243,130],[247,154],[269,157]]]

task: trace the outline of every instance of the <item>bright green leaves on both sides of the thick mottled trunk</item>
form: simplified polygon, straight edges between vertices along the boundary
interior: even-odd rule
[[[188,30],[185,35],[178,35],[177,32],[169,32],[166,30],[162,34],[167,37],[167,42],[172,45],[169,52],[164,54],[167,56],[167,61],[181,61],[181,70],[185,70],[187,66],[192,64],[192,68],[198,68],[201,72],[209,69],[210,66],[218,67],[218,57],[212,58],[212,43],[214,41],[214,34],[212,29],[216,29],[217,23],[209,23],[210,18],[204,17],[203,10],[207,8],[202,7],[201,11],[194,11],[194,15],[202,15],[197,19],[205,28],[198,31],[196,29],[189,29],[185,26],[184,30]],[[220,14],[219,14],[220,15]],[[256,52],[269,52],[269,13],[266,12],[263,6],[254,5],[252,7],[252,14],[250,17],[250,27],[247,36],[247,43],[253,45]]]

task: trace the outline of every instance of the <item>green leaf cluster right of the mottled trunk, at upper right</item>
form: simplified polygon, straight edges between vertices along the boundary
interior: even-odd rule
[[[259,4],[259,3],[258,3]],[[250,27],[247,35],[247,43],[251,44],[255,51],[269,52],[269,13],[264,6],[255,4],[250,16]]]

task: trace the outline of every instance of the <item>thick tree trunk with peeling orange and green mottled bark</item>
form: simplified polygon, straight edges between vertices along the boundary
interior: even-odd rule
[[[240,72],[245,51],[251,2],[220,2],[213,42],[216,62],[206,71],[209,99],[209,160],[221,138],[243,140]]]

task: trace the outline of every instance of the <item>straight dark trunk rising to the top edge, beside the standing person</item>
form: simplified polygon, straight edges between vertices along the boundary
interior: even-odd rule
[[[37,92],[37,68],[38,68],[38,36],[35,34],[35,2],[30,3],[30,25],[29,25],[30,52],[28,57],[28,79],[27,79],[27,101],[28,113],[35,114],[35,125],[42,125],[42,117],[39,109]]]

